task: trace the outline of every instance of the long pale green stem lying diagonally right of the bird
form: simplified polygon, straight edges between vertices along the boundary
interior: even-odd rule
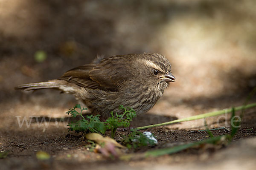
[[[253,108],[253,107],[256,107],[256,103],[251,103],[251,104],[246,105],[246,106],[236,107],[235,111],[239,111],[239,110],[242,110],[242,109]],[[155,125],[137,127],[137,130],[147,129],[147,128],[151,128],[151,127],[157,127],[157,126],[163,126],[163,125],[170,125],[170,124],[178,123],[178,122],[185,122],[185,121],[203,119],[203,118],[207,118],[207,117],[211,117],[211,116],[218,116],[218,115],[221,115],[221,114],[230,113],[231,111],[232,111],[232,108],[224,109],[224,110],[221,110],[221,111],[214,111],[214,112],[204,113],[204,114],[191,116],[191,117],[187,117],[187,118],[183,118],[183,119],[173,120],[171,122],[165,122],[165,123],[159,123],[159,124],[155,124]]]

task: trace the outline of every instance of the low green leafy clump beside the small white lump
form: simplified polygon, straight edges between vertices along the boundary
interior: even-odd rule
[[[150,137],[154,137],[151,135]],[[124,139],[122,140],[122,143],[130,148],[136,149],[137,147],[142,146],[153,146],[155,145],[155,141],[152,139],[149,139],[145,134],[143,134],[140,131],[137,131],[137,129],[131,129],[131,133],[128,134],[128,136],[124,136]]]

